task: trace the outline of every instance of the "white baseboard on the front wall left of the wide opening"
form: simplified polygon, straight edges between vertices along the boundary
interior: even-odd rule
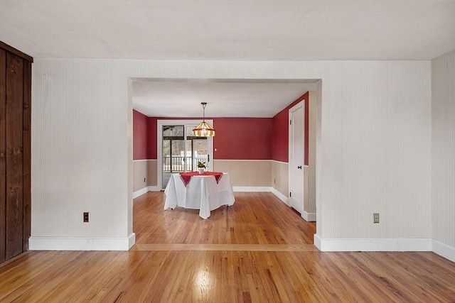
[[[30,237],[30,250],[129,250],[136,242],[136,234],[128,238],[64,238]]]

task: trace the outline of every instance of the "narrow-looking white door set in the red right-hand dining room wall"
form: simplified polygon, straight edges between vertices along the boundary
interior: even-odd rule
[[[289,109],[289,206],[304,212],[304,102]]]

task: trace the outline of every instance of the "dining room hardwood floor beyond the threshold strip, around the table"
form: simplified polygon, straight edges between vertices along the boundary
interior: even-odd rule
[[[269,192],[237,192],[234,206],[215,209],[207,220],[196,209],[163,211],[165,197],[162,192],[149,192],[134,200],[139,245],[313,244],[316,224],[301,219]]]

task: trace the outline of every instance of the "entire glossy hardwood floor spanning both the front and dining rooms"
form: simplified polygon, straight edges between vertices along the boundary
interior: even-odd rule
[[[272,194],[235,197],[203,220],[145,194],[132,250],[29,251],[0,265],[0,302],[455,302],[439,255],[321,253]]]

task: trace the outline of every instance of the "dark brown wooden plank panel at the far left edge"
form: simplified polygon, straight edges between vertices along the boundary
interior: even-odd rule
[[[0,41],[0,263],[31,234],[31,63]]]

